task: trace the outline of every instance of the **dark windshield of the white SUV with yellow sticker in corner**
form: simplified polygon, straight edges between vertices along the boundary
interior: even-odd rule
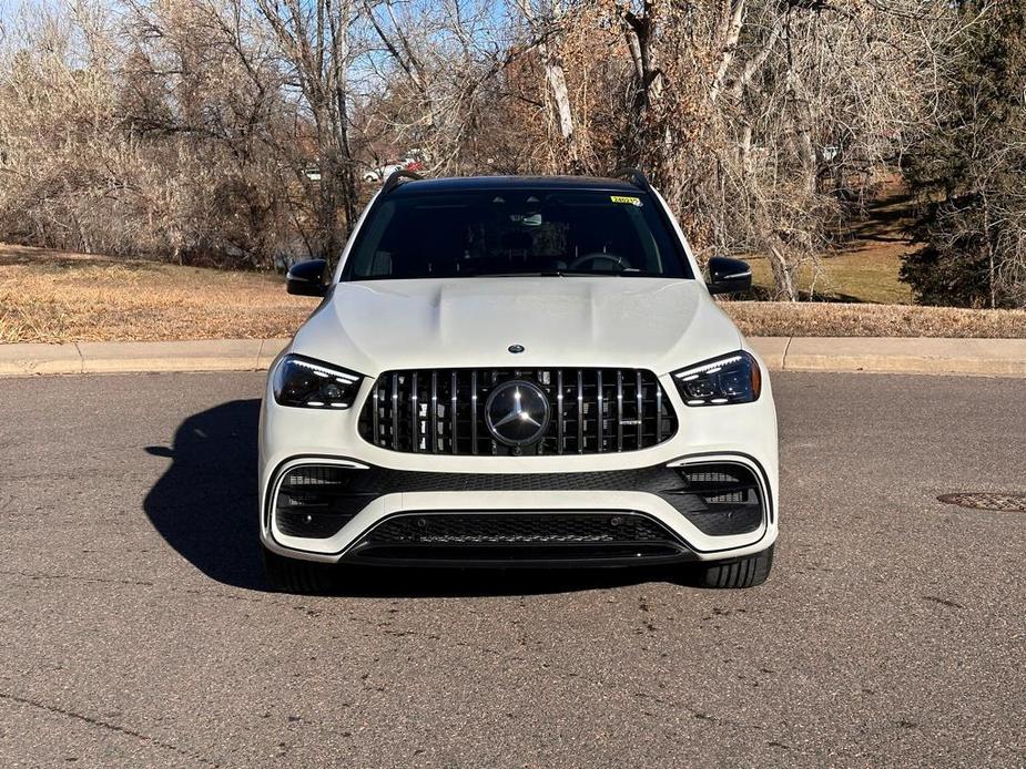
[[[343,280],[497,275],[690,278],[642,191],[413,191],[375,204]]]

